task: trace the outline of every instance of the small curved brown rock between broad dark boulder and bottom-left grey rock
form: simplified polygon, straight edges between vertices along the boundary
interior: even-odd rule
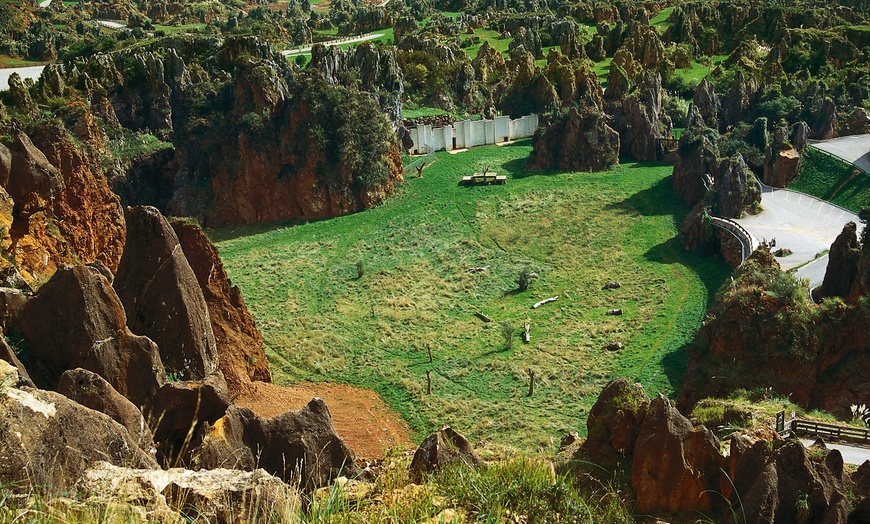
[[[142,412],[103,377],[82,368],[70,369],[60,376],[57,392],[82,406],[108,415],[127,428],[139,447],[145,451],[151,450],[153,438]]]

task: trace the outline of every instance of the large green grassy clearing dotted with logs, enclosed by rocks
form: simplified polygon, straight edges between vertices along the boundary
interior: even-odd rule
[[[526,449],[585,432],[613,377],[674,394],[684,347],[729,270],[676,240],[688,210],[673,196],[672,168],[531,173],[523,167],[530,149],[526,140],[438,153],[423,178],[408,178],[378,208],[214,232],[275,381],[372,388],[418,436],[450,424],[474,440]],[[484,163],[508,184],[457,185]],[[487,269],[469,272],[476,267]],[[539,278],[519,292],[524,268]],[[608,280],[622,288],[602,289]],[[615,308],[623,315],[606,314]],[[530,344],[520,338],[526,319]],[[513,329],[509,349],[504,324]],[[607,351],[610,342],[625,348]],[[531,397],[527,370],[536,374]]]

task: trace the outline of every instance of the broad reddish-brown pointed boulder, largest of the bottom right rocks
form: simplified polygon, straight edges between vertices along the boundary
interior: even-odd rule
[[[653,399],[634,444],[631,487],[637,511],[709,511],[719,488],[719,440],[694,426],[662,395]]]

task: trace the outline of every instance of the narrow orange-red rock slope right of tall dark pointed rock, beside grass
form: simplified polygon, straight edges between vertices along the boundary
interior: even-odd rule
[[[250,388],[253,380],[271,382],[263,338],[239,288],[230,282],[217,249],[197,226],[176,221],[172,228],[208,305],[220,368],[230,395]]]

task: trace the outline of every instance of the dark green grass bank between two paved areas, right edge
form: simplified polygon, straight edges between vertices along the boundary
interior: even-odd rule
[[[855,213],[870,207],[870,175],[812,147],[804,151],[800,172],[788,187]]]

